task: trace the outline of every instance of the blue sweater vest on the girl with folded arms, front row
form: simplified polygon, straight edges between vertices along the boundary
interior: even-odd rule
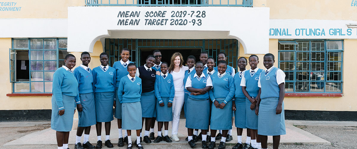
[[[191,85],[192,85],[192,88],[195,88],[195,89],[203,89],[206,87],[206,83],[207,83],[207,77],[209,77],[210,75],[206,74],[206,73],[202,73],[202,74],[205,74],[205,77],[202,77],[200,78],[199,80],[197,79],[197,77],[193,78],[193,76],[195,75],[196,73],[191,73],[190,76],[190,79],[191,79]],[[193,98],[193,99],[197,99],[197,100],[206,100],[208,98],[210,98],[210,95],[208,93],[205,93],[203,95],[191,95],[189,94],[188,95],[189,97]]]

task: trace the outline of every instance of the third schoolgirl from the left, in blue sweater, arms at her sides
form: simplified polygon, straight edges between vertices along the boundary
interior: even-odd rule
[[[97,145],[96,148],[102,148],[102,122],[105,122],[105,146],[112,148],[113,144],[109,140],[110,121],[113,118],[113,106],[115,106],[115,83],[116,70],[108,65],[109,55],[105,52],[100,56],[101,65],[93,68],[93,89],[95,92],[95,110],[96,110],[96,129]]]

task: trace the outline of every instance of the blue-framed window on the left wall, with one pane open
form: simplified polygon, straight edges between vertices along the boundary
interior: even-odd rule
[[[51,93],[53,74],[68,54],[67,39],[12,39],[9,54],[12,93]]]

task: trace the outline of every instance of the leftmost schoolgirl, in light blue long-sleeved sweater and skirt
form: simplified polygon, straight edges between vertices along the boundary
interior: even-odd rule
[[[73,125],[73,115],[76,105],[82,109],[79,101],[78,82],[71,69],[76,65],[76,57],[67,54],[65,65],[57,69],[52,81],[52,115],[51,128],[56,130],[57,148],[67,149],[69,131]]]

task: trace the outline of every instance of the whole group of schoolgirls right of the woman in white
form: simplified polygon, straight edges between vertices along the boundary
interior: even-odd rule
[[[237,74],[227,65],[223,52],[218,54],[216,67],[215,60],[208,58],[205,52],[201,53],[200,60],[195,63],[195,57],[188,56],[189,69],[184,79],[186,139],[191,148],[202,139],[202,148],[213,149],[215,141],[221,139],[218,149],[225,149],[226,141],[232,139],[234,115],[237,144],[232,149],[267,149],[267,135],[273,136],[273,149],[278,149],[280,135],[286,134],[285,73],[273,65],[274,55],[264,56],[266,70],[257,67],[257,55],[249,58],[250,70],[246,70],[247,59],[239,58]],[[246,143],[242,143],[244,128],[247,129]],[[199,135],[198,129],[201,129]],[[216,135],[217,130],[220,132]]]

